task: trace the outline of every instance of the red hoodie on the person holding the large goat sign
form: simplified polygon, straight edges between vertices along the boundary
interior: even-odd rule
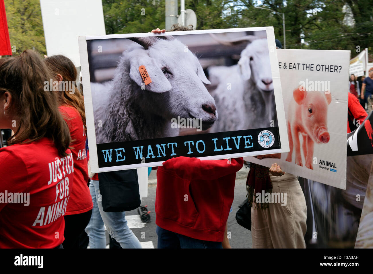
[[[222,242],[243,158],[177,157],[157,171],[156,224],[194,239]]]

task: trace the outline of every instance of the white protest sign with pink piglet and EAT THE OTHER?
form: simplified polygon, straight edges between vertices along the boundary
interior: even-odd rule
[[[285,172],[346,188],[346,134],[350,51],[277,50],[290,152]]]

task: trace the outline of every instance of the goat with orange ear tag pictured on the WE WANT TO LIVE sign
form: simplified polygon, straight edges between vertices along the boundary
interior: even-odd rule
[[[142,47],[123,52],[108,91],[91,85],[97,143],[178,136],[180,130],[171,128],[171,119],[178,116],[201,118],[203,130],[211,127],[216,106],[197,57],[172,36],[128,39]],[[148,85],[140,66],[150,76]]]

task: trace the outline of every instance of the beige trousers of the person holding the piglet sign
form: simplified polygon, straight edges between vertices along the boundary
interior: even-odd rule
[[[253,248],[305,248],[307,206],[302,188],[295,175],[272,176],[272,193],[283,192],[283,203],[269,207],[251,207],[251,238]],[[254,197],[256,199],[256,197]]]

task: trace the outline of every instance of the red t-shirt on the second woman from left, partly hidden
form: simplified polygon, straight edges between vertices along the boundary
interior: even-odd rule
[[[71,152],[74,158],[74,188],[71,191],[68,209],[65,215],[80,214],[93,208],[90,189],[88,188],[88,162],[85,153],[85,135],[82,118],[71,106],[59,107],[62,117],[70,129]]]

